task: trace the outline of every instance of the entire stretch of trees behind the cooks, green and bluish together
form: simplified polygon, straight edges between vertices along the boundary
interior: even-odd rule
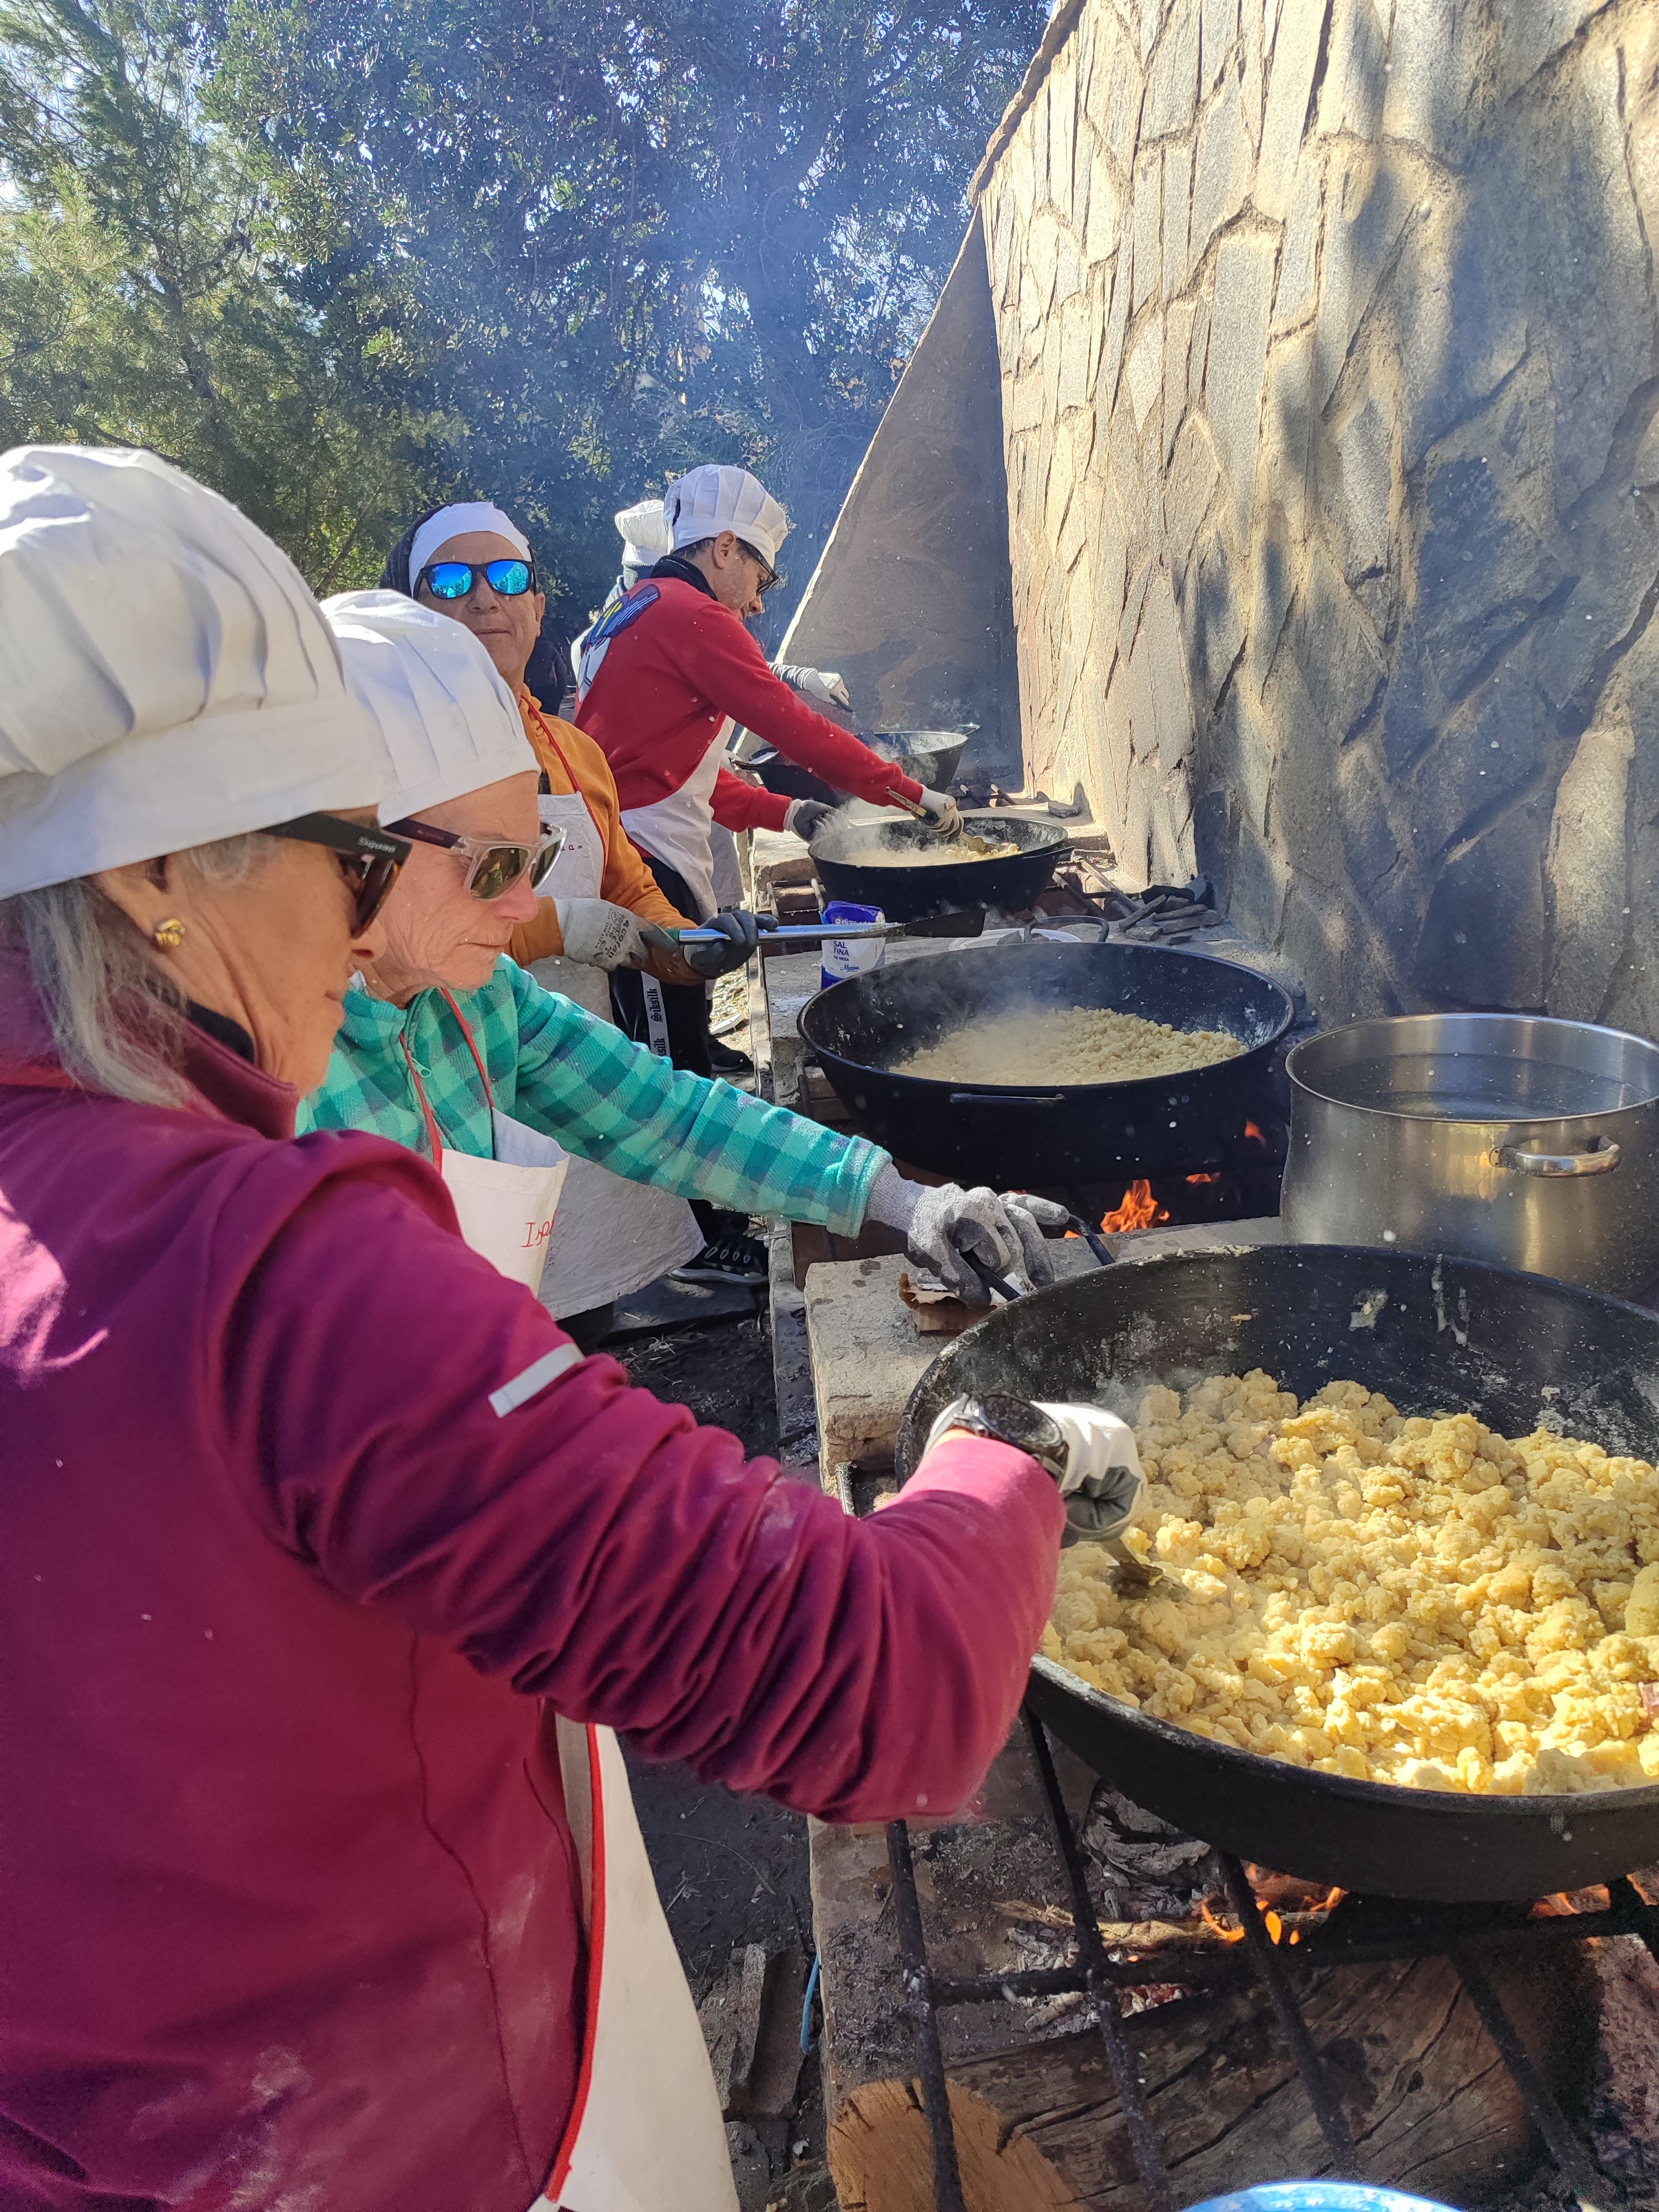
[[[0,436],[144,438],[332,586],[476,489],[575,608],[741,458],[803,584],[1044,15],[0,0]]]

